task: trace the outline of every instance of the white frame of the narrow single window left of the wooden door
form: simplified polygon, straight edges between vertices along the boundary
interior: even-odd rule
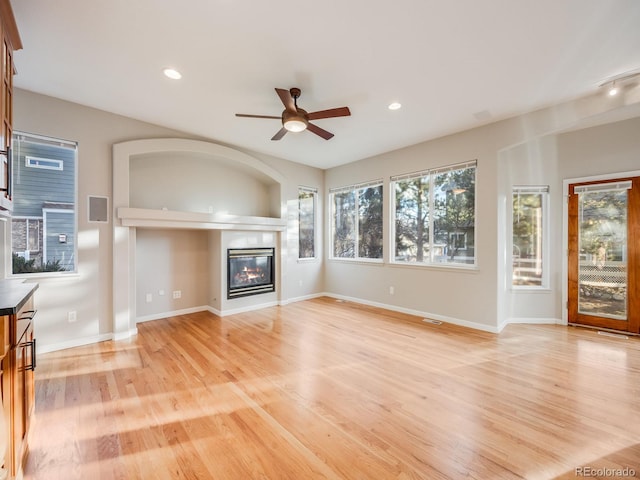
[[[515,261],[516,258],[514,256],[516,244],[514,242],[514,221],[515,221],[515,209],[513,207],[514,197],[518,194],[527,194],[540,195],[540,227],[542,229],[542,233],[540,234],[540,250],[541,250],[541,260],[540,260],[540,284],[539,285],[518,285],[514,283],[514,275],[515,275]],[[511,202],[509,203],[510,208],[510,222],[509,222],[509,243],[510,249],[508,251],[511,252],[510,263],[509,263],[509,271],[511,272],[511,283],[510,287],[515,291],[532,291],[532,290],[548,290],[549,289],[549,278],[550,278],[550,252],[549,252],[549,225],[550,225],[550,212],[549,212],[549,186],[548,185],[514,185],[511,188]]]

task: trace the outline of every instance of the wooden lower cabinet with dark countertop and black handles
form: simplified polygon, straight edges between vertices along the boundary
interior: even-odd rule
[[[21,478],[28,453],[28,434],[35,406],[33,292],[37,285],[0,287],[0,382],[2,419],[0,419],[0,479]],[[6,306],[9,305],[9,306]],[[6,308],[5,308],[6,307]]]

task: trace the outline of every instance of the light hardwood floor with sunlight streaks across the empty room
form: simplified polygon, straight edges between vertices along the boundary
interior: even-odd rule
[[[138,329],[39,357],[27,479],[640,477],[637,338],[329,298]]]

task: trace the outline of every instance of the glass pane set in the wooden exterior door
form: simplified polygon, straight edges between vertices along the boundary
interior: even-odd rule
[[[578,312],[627,320],[627,188],[578,196]]]

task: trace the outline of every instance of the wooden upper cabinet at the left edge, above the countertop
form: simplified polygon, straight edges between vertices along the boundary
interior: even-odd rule
[[[0,0],[0,210],[10,212],[11,202],[11,136],[13,134],[13,52],[22,48],[11,3]]]

